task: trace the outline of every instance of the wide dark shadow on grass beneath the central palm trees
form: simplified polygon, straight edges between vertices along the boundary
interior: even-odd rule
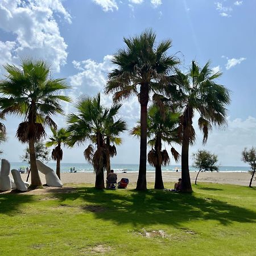
[[[54,193],[54,190],[51,190]],[[167,224],[181,226],[193,220],[216,220],[222,225],[233,221],[255,222],[256,212],[213,198],[184,195],[169,191],[106,191],[81,187],[72,193],[55,193],[60,201],[81,200],[85,206],[94,205],[97,218],[117,224],[131,223],[137,226]],[[207,195],[205,195],[207,196]],[[74,202],[75,203],[75,202]],[[86,207],[84,208],[85,212]]]

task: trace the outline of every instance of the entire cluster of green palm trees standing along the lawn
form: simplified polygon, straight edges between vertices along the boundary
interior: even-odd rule
[[[46,136],[45,127],[52,130],[47,146],[56,145],[52,158],[57,160],[57,175],[60,177],[61,143],[73,146],[89,141],[84,151],[85,159],[93,164],[96,172],[96,188],[104,188],[104,170],[110,171],[110,157],[117,154],[115,145],[122,142],[119,135],[127,130],[126,122],[117,118],[122,100],[137,96],[141,106],[141,118],[131,134],[140,138],[140,160],[137,189],[147,189],[146,163],[155,167],[155,188],[163,188],[162,164],[170,163],[162,142],[179,143],[181,150],[181,178],[184,192],[191,192],[188,169],[189,144],[195,141],[192,121],[200,114],[198,124],[204,133],[204,143],[212,125],[226,125],[226,108],[229,90],[215,80],[221,72],[213,73],[209,62],[200,68],[192,61],[187,73],[179,70],[179,59],[167,54],[171,40],[156,45],[156,35],[146,30],[139,36],[125,38],[126,48],[113,55],[116,68],[109,73],[105,93],[113,93],[113,105],[102,106],[100,94],[96,97],[80,96],[75,102],[76,113],[67,117],[67,129],[56,130],[52,115],[63,114],[61,102],[71,102],[61,95],[69,86],[64,79],[52,79],[50,66],[45,61],[23,59],[21,67],[5,65],[6,79],[0,82],[0,110],[6,114],[24,117],[16,136],[29,144],[31,183],[40,186],[35,159],[34,144]],[[148,102],[150,106],[148,107]],[[0,126],[4,128],[4,126]],[[3,131],[3,129],[2,129]],[[148,140],[147,140],[148,139]],[[93,144],[95,146],[93,146]],[[152,147],[147,155],[147,144]],[[175,160],[180,154],[171,148]]]

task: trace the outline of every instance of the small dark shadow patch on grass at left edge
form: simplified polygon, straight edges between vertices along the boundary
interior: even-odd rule
[[[13,215],[19,212],[20,206],[26,203],[32,203],[32,195],[18,195],[18,192],[0,194],[0,214]]]

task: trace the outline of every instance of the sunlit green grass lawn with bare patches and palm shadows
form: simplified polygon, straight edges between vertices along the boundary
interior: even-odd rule
[[[0,193],[0,255],[256,255],[256,189]],[[166,184],[171,187],[172,184]]]

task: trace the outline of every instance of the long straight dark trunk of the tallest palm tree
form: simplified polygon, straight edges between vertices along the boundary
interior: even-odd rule
[[[147,189],[147,103],[148,103],[148,84],[141,85],[139,98],[141,104],[141,146],[139,155],[139,176],[137,180],[137,190]]]

